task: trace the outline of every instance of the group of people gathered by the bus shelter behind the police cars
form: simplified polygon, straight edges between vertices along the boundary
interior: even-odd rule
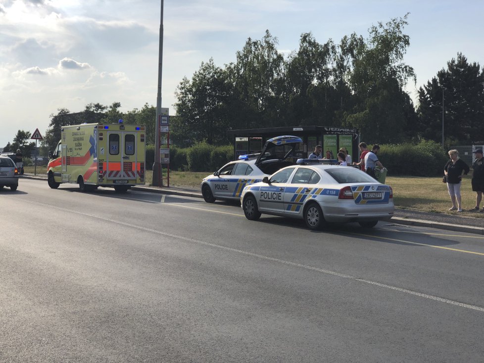
[[[371,150],[368,150],[368,145],[365,142],[360,142],[358,147],[361,151],[360,154],[360,162],[351,162],[351,155],[348,154],[348,150],[346,148],[341,147],[338,152],[338,164],[347,166],[347,165],[358,165],[360,169],[366,172],[368,175],[371,175],[373,178],[376,179],[375,175],[375,168],[378,166],[384,169],[384,166],[378,160],[378,152],[380,151],[380,145],[373,145]],[[323,147],[321,145],[316,145],[314,151],[309,154],[309,159],[324,159],[323,158]]]

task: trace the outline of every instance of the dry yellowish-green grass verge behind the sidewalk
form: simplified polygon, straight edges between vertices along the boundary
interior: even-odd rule
[[[37,167],[38,175],[45,175],[46,167]],[[34,173],[34,167],[25,167],[25,173]],[[174,172],[170,171],[170,186],[191,187],[198,189],[203,178],[210,172]],[[163,178],[166,178],[166,169],[163,170]],[[146,171],[146,185],[151,185],[152,172]],[[393,201],[396,208],[411,209],[423,212],[457,214],[449,212],[452,206],[447,185],[442,178],[423,177],[387,177],[386,183],[393,188]],[[163,185],[167,185],[166,179]],[[471,177],[464,176],[461,186],[463,213],[459,215],[483,218],[483,213],[469,212],[476,205],[476,193],[471,188]],[[481,203],[481,207],[482,207]]]

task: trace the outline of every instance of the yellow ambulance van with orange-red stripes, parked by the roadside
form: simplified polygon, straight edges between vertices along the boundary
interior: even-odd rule
[[[63,126],[61,139],[49,152],[47,180],[79,184],[81,191],[98,186],[125,192],[145,184],[145,126],[123,124]]]

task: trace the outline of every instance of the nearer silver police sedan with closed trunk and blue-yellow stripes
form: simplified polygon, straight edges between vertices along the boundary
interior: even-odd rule
[[[371,228],[393,216],[389,185],[354,167],[337,165],[336,160],[297,160],[297,165],[246,186],[241,202],[249,220],[265,213],[303,219],[310,229],[331,222]]]

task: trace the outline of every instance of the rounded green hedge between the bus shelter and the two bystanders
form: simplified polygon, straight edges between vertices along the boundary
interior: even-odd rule
[[[434,141],[380,146],[378,158],[388,169],[389,176],[435,177],[442,175],[447,162],[445,150]]]

